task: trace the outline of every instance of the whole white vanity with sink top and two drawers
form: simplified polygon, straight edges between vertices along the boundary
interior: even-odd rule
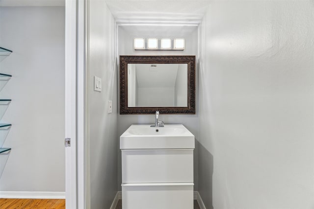
[[[183,125],[131,125],[120,136],[123,209],[193,209],[194,136]]]

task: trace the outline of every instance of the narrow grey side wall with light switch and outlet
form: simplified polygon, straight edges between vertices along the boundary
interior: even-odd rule
[[[109,209],[117,193],[116,24],[105,1],[90,0],[89,112],[91,209]],[[94,76],[102,92],[94,91]],[[108,100],[112,113],[108,114]]]

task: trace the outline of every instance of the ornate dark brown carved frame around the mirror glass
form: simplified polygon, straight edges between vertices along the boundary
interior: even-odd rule
[[[128,107],[128,64],[187,64],[187,107]],[[120,114],[195,114],[195,56],[120,56]]]

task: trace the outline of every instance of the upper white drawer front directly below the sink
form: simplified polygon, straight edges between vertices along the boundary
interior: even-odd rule
[[[122,183],[193,182],[193,149],[122,150]]]

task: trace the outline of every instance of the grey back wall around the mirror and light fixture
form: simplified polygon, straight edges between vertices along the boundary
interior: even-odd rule
[[[185,38],[184,51],[135,51],[133,39],[135,37],[155,38]],[[174,25],[120,25],[118,26],[118,55],[196,55],[198,51],[198,27],[197,26],[174,26]],[[197,66],[196,66],[197,74]],[[196,81],[197,83],[197,81]],[[197,92],[197,88],[196,88]],[[195,136],[194,150],[194,189],[198,186],[198,163],[197,163],[197,132],[198,132],[198,108],[196,95],[196,115],[159,115],[159,120],[165,124],[183,124]],[[118,104],[119,105],[119,104]],[[155,115],[118,115],[118,138],[131,124],[154,124]],[[118,161],[118,186],[121,190],[121,152]]]

